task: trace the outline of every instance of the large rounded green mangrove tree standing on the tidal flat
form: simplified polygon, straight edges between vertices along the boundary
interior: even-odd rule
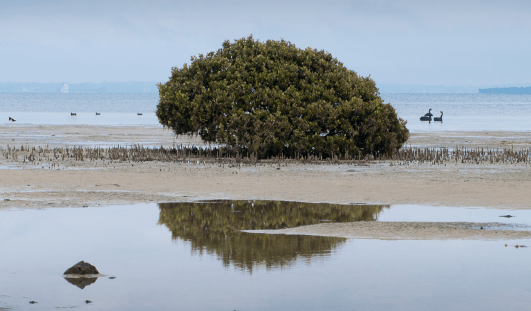
[[[225,41],[158,88],[162,125],[259,158],[389,156],[409,138],[370,77],[284,40]]]

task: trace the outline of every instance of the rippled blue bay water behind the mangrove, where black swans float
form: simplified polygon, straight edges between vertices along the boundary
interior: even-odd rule
[[[412,132],[531,131],[528,94],[382,94],[382,98],[395,106]],[[157,104],[156,93],[0,93],[0,124],[13,117],[17,124],[156,125]],[[444,112],[443,123],[419,120],[430,108],[435,116]]]

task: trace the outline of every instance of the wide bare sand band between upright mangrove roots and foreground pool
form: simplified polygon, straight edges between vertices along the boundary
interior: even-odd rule
[[[292,164],[276,169],[64,160],[51,169],[51,162],[9,161],[0,159],[0,209],[206,198],[531,209],[531,167],[511,164]]]

